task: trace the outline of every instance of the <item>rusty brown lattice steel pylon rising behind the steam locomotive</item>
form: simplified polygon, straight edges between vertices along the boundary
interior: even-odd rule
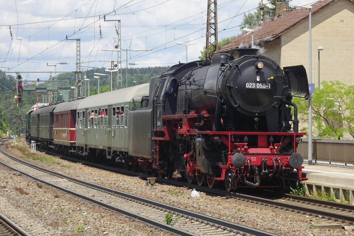
[[[208,0],[206,20],[206,48],[205,59],[211,59],[211,55],[218,50],[218,17],[217,0]],[[214,40],[212,40],[214,38]]]

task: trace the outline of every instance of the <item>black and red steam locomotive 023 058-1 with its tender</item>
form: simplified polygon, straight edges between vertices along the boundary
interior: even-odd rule
[[[306,70],[281,69],[254,48],[238,52],[180,63],[150,80],[144,108],[130,113],[130,155],[141,167],[210,188],[224,182],[228,191],[284,187],[293,169],[306,180],[296,153],[305,133],[292,102],[308,97]]]

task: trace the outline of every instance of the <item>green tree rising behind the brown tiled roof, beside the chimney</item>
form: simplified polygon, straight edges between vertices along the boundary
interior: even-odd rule
[[[289,2],[290,1],[292,0],[289,0]],[[275,16],[275,5],[277,2],[281,2],[281,0],[271,0],[269,2],[270,2],[270,7],[264,5],[264,9],[263,9],[264,18]],[[244,28],[252,28],[256,24],[259,24],[259,21],[261,19],[261,9],[259,8],[260,6],[261,6],[261,2],[258,3],[258,8],[255,12],[249,12],[247,14],[245,13],[245,15],[243,16],[243,21],[240,25],[241,31]],[[291,11],[295,10],[295,8],[297,8],[297,6],[289,6],[289,9]]]

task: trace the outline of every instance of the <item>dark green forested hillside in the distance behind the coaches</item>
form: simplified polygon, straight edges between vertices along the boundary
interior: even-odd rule
[[[81,79],[84,80],[84,75],[87,79],[90,79],[90,95],[97,94],[98,79],[94,78],[94,73],[109,74],[105,71],[106,68],[86,70],[81,73]],[[139,84],[145,84],[149,82],[149,79],[153,76],[161,75],[170,67],[147,67],[147,68],[128,68],[127,82],[128,87],[134,86],[137,83],[133,81],[139,81]],[[138,72],[139,71],[139,72]],[[69,87],[75,86],[75,74],[74,73],[62,73],[58,74],[57,80],[68,80]],[[100,92],[107,92],[110,90],[110,80],[108,76],[100,76]],[[115,76],[116,77],[116,76]],[[48,80],[54,80],[55,78],[49,78]],[[139,80],[138,80],[139,79]],[[39,102],[43,102],[44,97],[48,97],[46,92],[29,92],[23,91],[22,103],[19,107],[15,103],[15,94],[13,92],[13,81],[16,80],[16,76],[7,75],[4,71],[0,70],[0,137],[6,135],[6,132],[10,129],[12,134],[17,134],[18,124],[19,132],[25,133],[25,123],[27,119],[27,113],[29,109],[36,104],[37,99]],[[117,81],[115,81],[117,85]],[[86,86],[83,86],[83,90]],[[126,87],[126,70],[122,70],[122,87]],[[116,88],[116,86],[115,86]],[[88,94],[88,86],[86,87],[86,96]],[[38,95],[37,95],[38,94]],[[59,96],[60,97],[60,96]],[[59,98],[58,98],[59,99]],[[45,101],[46,102],[46,101]],[[19,122],[18,122],[19,121]]]

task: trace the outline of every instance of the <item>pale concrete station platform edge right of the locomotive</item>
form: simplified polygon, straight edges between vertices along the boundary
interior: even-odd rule
[[[325,191],[341,201],[349,201],[354,204],[354,168],[349,166],[326,165],[316,163],[306,165],[302,169],[302,177],[308,178],[303,183],[306,186],[306,194],[317,195],[318,192]]]

